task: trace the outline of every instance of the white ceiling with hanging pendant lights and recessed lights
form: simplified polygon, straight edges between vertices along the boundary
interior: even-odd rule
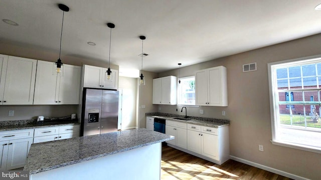
[[[0,0],[0,39],[121,69],[161,72],[321,33],[321,0]],[[96,45],[88,45],[87,42]],[[63,59],[62,59],[63,60]],[[138,76],[138,74],[137,74]]]

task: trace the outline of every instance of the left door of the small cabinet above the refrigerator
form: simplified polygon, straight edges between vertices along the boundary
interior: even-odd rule
[[[102,67],[84,65],[84,87],[101,88]]]

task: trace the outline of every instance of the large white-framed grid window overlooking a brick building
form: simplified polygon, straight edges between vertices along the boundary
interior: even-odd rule
[[[321,153],[321,57],[268,64],[272,143]]]

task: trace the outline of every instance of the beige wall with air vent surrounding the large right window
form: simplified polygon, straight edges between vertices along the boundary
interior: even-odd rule
[[[188,107],[188,115],[226,118],[230,124],[230,154],[310,179],[321,177],[321,154],[273,145],[267,63],[321,54],[321,34],[292,40],[181,68],[181,76],[195,70],[227,67],[228,106]],[[242,72],[242,64],[257,62],[257,71]],[[184,64],[184,62],[182,62]],[[179,75],[178,69],[159,73],[159,77]],[[159,105],[160,112],[176,112],[176,105]],[[204,109],[204,115],[199,113]],[[222,110],[226,116],[222,116]],[[264,151],[258,150],[258,144]]]

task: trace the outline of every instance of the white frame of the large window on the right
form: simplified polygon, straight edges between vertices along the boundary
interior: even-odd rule
[[[282,60],[282,61],[276,61],[276,62],[270,62],[267,64],[268,67],[268,82],[269,82],[269,97],[270,97],[270,115],[271,115],[271,131],[272,131],[272,140],[271,143],[275,145],[295,148],[295,149],[301,149],[316,153],[321,153],[321,147],[315,147],[310,145],[304,145],[304,144],[298,144],[298,143],[292,143],[288,141],[283,141],[281,139],[277,138],[277,131],[278,131],[278,113],[276,110],[278,109],[278,100],[275,101],[277,98],[277,95],[275,95],[274,87],[277,87],[276,82],[276,72],[274,72],[275,68],[278,67],[289,67],[289,66],[295,66],[295,65],[303,65],[303,64],[310,64],[313,62],[320,62],[321,61],[321,55],[313,55],[313,56],[307,56],[307,57],[301,57],[301,58],[295,58],[295,59],[288,59],[288,60]],[[318,74],[319,75],[319,74]],[[321,84],[319,84],[321,86]],[[319,87],[320,88],[320,87]],[[307,130],[305,130],[307,131]],[[321,133],[321,132],[319,132]]]

